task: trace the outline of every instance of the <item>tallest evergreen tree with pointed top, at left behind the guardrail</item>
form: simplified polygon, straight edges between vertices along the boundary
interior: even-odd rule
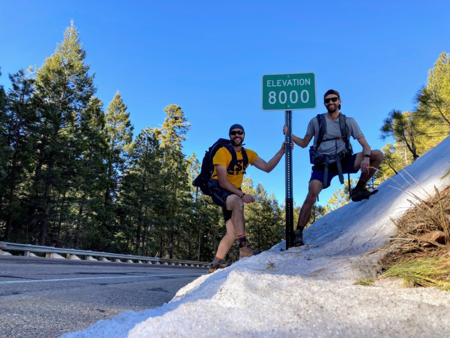
[[[35,131],[37,163],[28,221],[34,225],[33,239],[37,235],[42,245],[48,242],[48,232],[53,233],[50,226],[69,213],[67,194],[76,174],[80,115],[95,92],[85,58],[72,21],[63,42],[37,69],[33,104],[40,123]]]

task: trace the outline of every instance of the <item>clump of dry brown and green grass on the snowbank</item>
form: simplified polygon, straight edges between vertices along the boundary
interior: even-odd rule
[[[385,272],[403,278],[405,286],[436,286],[450,290],[450,186],[427,201],[417,202],[400,220],[397,237],[384,248]]]

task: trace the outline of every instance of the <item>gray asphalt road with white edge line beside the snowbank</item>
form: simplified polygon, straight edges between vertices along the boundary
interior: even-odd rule
[[[0,256],[0,337],[57,337],[158,307],[206,268]]]

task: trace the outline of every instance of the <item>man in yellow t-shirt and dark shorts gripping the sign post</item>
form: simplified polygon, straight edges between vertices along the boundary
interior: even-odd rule
[[[269,162],[264,161],[250,149],[244,149],[245,132],[240,124],[233,124],[229,130],[230,150],[227,147],[220,148],[212,159],[214,172],[210,180],[210,196],[215,204],[222,206],[225,220],[226,234],[219,243],[216,256],[209,268],[209,273],[224,268],[223,259],[230,250],[236,238],[239,239],[239,258],[250,257],[261,253],[251,248],[245,233],[244,203],[253,203],[253,196],[244,194],[241,184],[248,165],[270,173],[280,162],[285,152],[285,143]],[[232,152],[236,152],[236,162],[232,167]]]

